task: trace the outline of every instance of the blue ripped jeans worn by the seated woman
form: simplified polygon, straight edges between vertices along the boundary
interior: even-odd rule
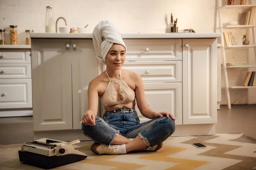
[[[82,132],[94,142],[109,145],[116,134],[133,139],[137,135],[145,139],[150,147],[165,141],[175,131],[174,120],[166,116],[140,123],[134,109],[121,108],[107,111],[103,119],[96,116],[96,125],[82,123]]]

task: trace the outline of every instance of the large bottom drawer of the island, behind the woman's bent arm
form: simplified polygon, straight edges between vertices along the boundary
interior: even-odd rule
[[[144,83],[145,100],[149,108],[156,112],[172,113],[176,118],[175,124],[182,124],[182,83]],[[140,113],[136,105],[136,111],[141,122],[150,119]]]

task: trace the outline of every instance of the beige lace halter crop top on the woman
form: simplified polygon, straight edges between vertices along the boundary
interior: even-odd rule
[[[108,73],[106,71],[108,76]],[[110,79],[105,93],[101,98],[105,111],[113,111],[119,108],[135,109],[135,92],[121,79],[121,71],[119,78]]]

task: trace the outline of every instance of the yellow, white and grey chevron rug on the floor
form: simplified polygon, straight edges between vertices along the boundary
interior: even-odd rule
[[[197,148],[192,143],[207,148]],[[54,170],[256,170],[256,139],[239,134],[169,137],[157,152],[95,155],[91,141],[76,144],[87,158]],[[41,170],[20,163],[21,144],[0,145],[0,170]]]

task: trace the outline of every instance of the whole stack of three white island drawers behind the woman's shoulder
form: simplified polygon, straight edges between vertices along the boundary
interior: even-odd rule
[[[156,112],[172,113],[182,125],[182,39],[125,39],[124,69],[142,77],[145,100]],[[150,119],[140,113],[140,122]]]

